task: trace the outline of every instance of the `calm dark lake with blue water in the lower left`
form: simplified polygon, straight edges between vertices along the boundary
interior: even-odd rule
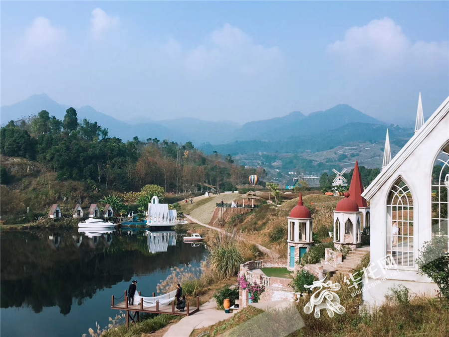
[[[80,337],[96,321],[104,328],[119,313],[111,296],[122,296],[131,280],[151,296],[171,267],[198,266],[206,255],[175,232],[39,230],[0,239],[1,337]]]

